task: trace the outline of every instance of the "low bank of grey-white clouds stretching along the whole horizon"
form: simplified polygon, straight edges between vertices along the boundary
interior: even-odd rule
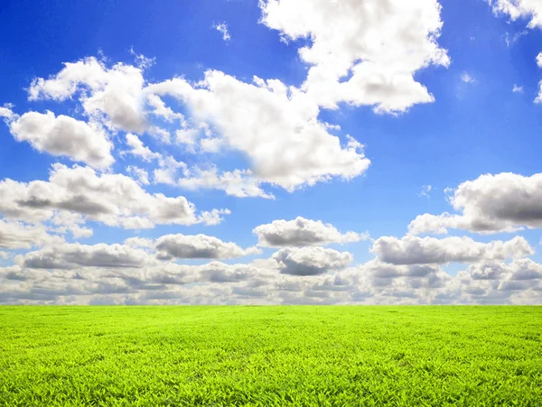
[[[321,247],[283,249],[251,264],[163,263],[149,253],[153,240],[129,241],[146,252],[127,245],[60,245],[19,256],[17,265],[0,267],[0,302],[470,304],[542,299],[542,265],[528,259],[473,264],[452,277],[435,264],[371,260],[345,268],[351,254]]]

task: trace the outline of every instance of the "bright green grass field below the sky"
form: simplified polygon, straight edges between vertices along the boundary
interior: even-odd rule
[[[1,406],[542,406],[542,307],[1,307]]]

